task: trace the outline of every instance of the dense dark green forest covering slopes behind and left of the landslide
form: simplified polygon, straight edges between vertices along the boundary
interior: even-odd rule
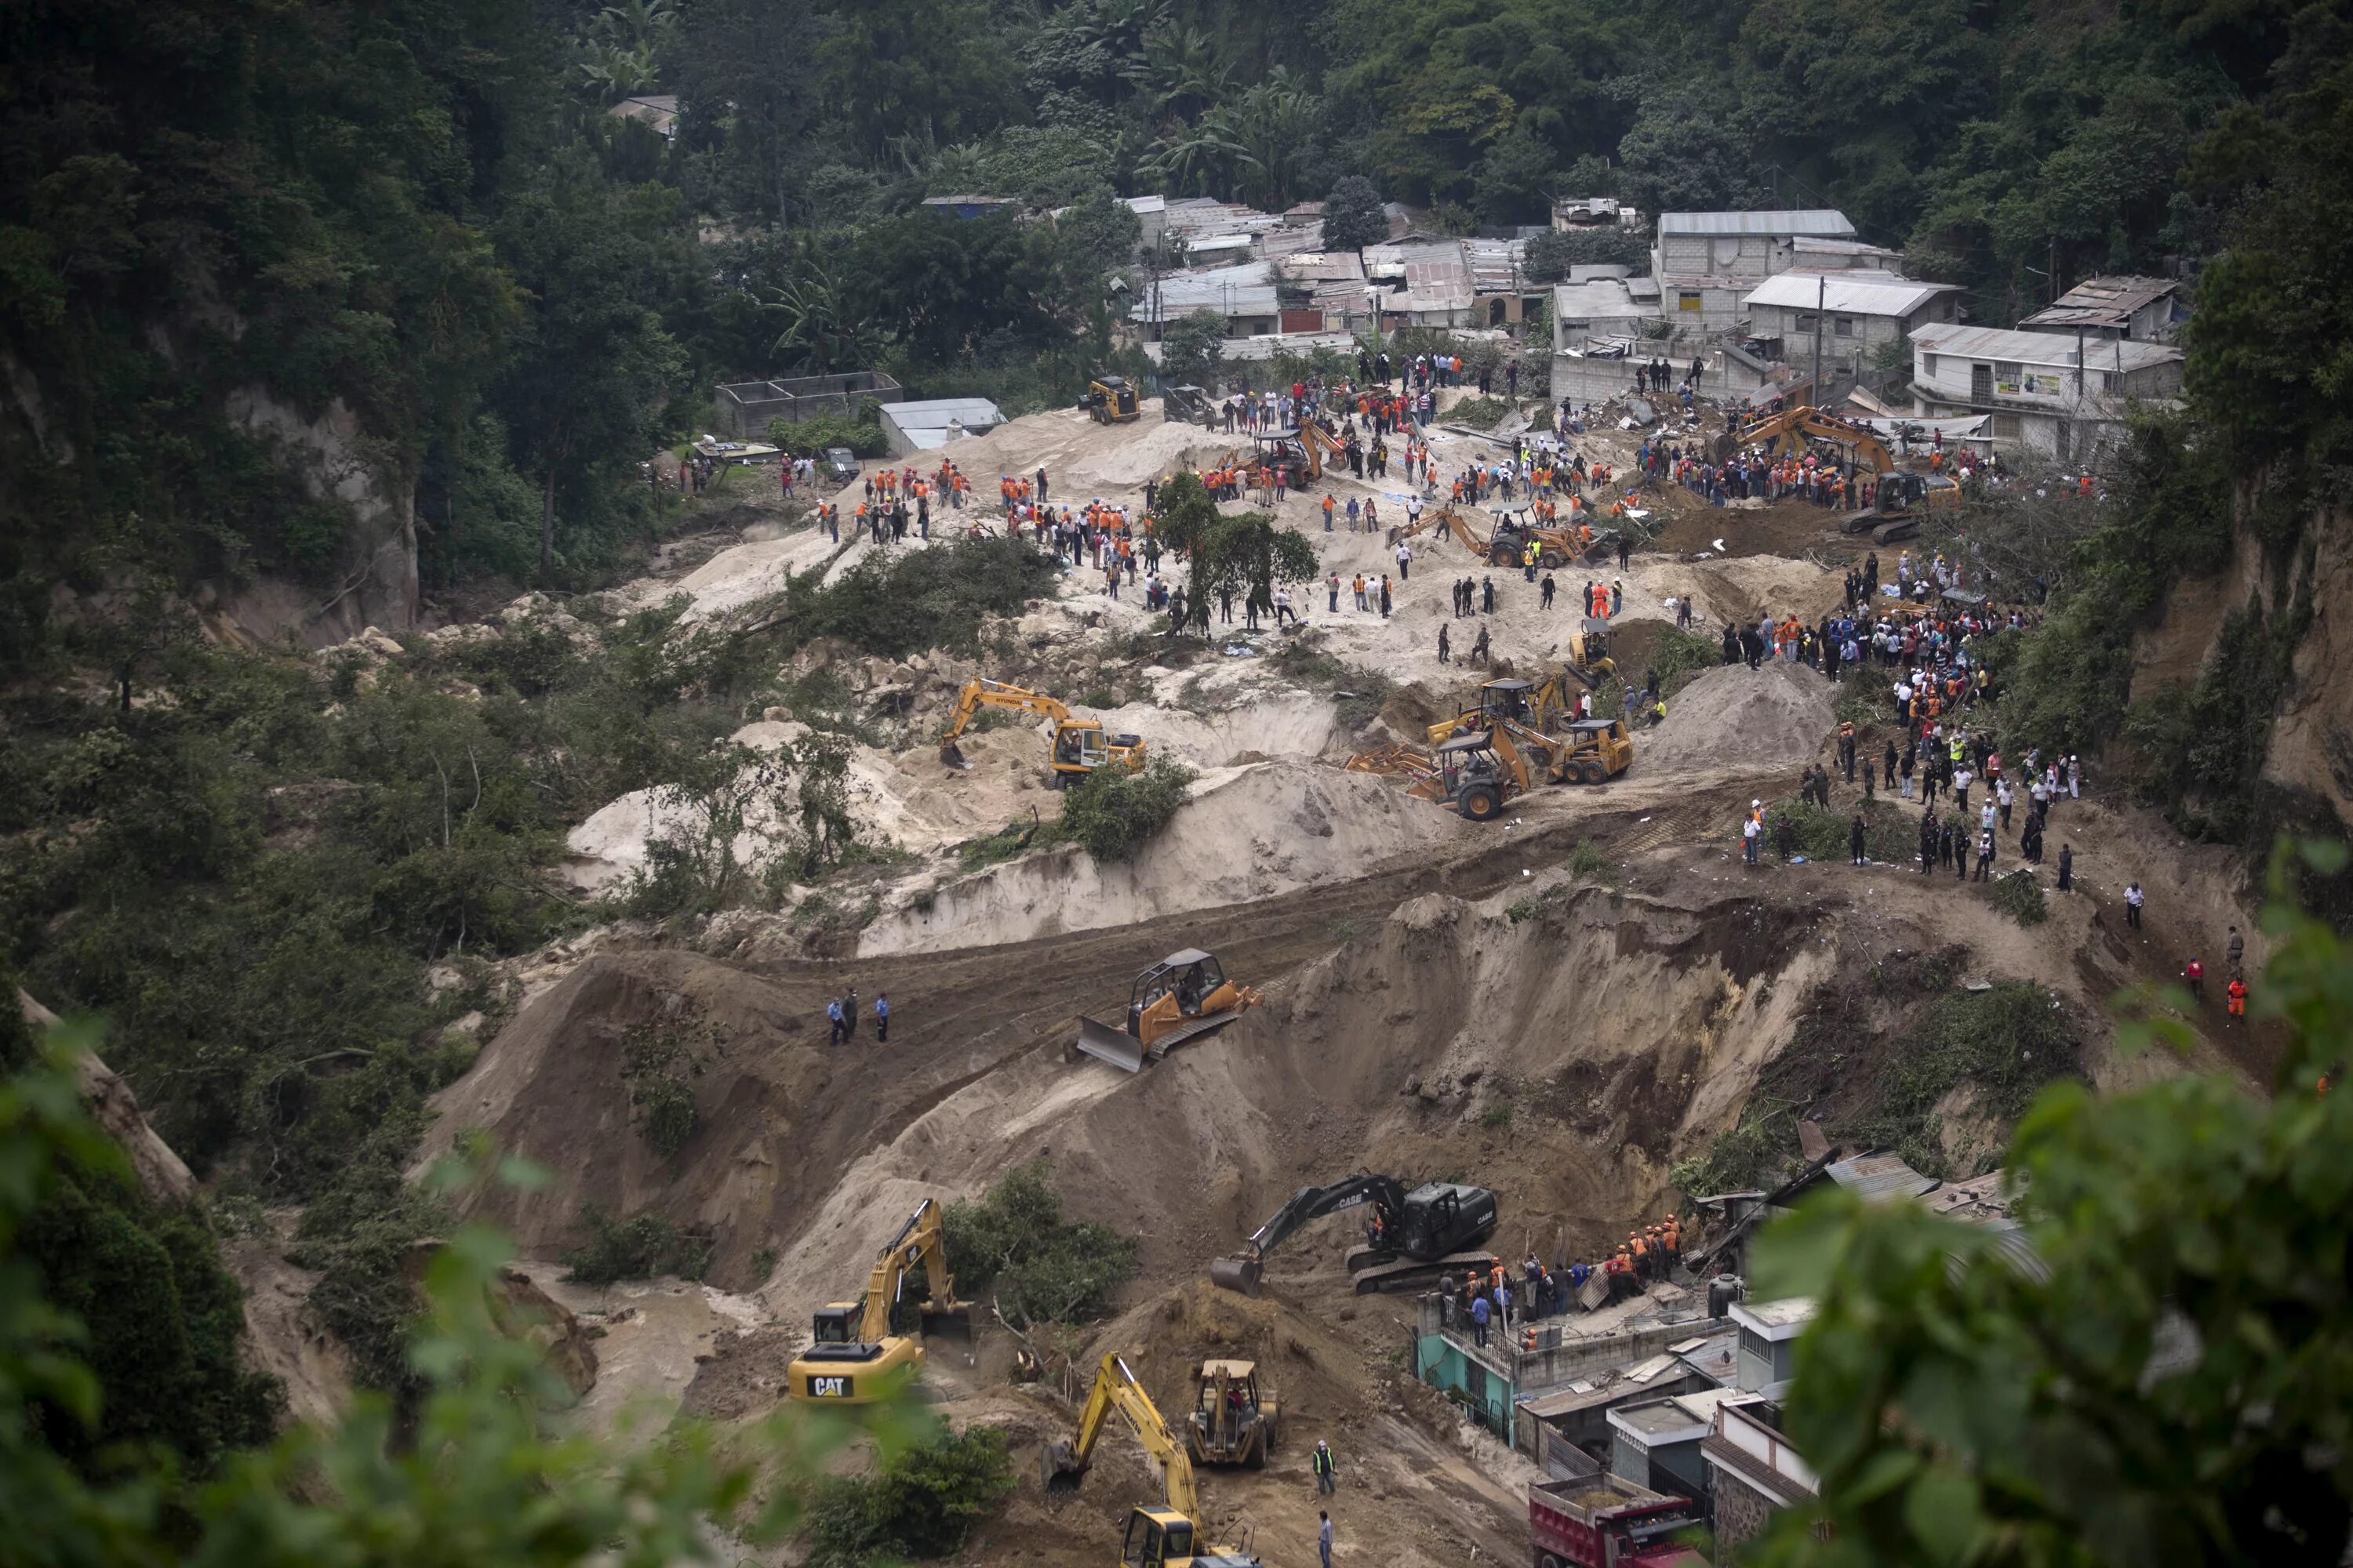
[[[464,976],[428,994],[428,966],[588,922],[546,877],[562,830],[708,771],[779,651],[906,654],[908,614],[969,639],[1038,564],[807,583],[758,646],[647,611],[593,649],[548,618],[386,672],[235,656],[181,595],[332,592],[351,534],[233,418],[252,388],[414,498],[428,590],[584,588],[664,527],[638,463],[708,428],[715,381],[880,364],[927,395],[1068,397],[1113,353],[1118,195],[1282,207],[1365,179],[1454,230],[1553,195],[1826,202],[1979,320],[2228,242],[2191,416],[2144,433],[2014,684],[2038,736],[2160,755],[2184,825],[2282,820],[2245,696],[2282,689],[2294,607],[2249,611],[2169,708],[2127,719],[2122,686],[2249,477],[2294,552],[2353,461],[2341,5],[28,0],[0,47],[0,665],[33,677],[5,708],[0,957],[111,1016],[108,1053],[169,1084],[165,1131],[221,1192],[311,1204],[306,1255],[376,1382],[405,1375],[400,1248],[435,1222],[400,1173],[471,1048],[442,1030],[496,1006]],[[645,92],[678,94],[675,139],[609,113]],[[969,190],[1061,216],[922,209]],[[840,757],[798,762],[824,825]],[[852,846],[828,827],[809,853]],[[647,898],[673,893],[649,912],[699,896]],[[85,1187],[78,1222],[136,1213]],[[214,1403],[165,1434],[193,1462],[252,1418],[245,1389]]]

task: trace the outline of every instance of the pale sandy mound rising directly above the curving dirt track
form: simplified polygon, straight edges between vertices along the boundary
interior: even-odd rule
[[[1482,827],[1372,773],[1301,762],[1209,769],[1134,860],[1101,865],[1064,846],[995,865],[932,891],[929,907],[904,905],[866,926],[859,957],[1021,943],[1273,898],[1402,853],[1435,853],[1471,832]]]

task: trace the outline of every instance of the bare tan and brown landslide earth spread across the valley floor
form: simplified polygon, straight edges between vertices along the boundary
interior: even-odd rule
[[[1591,449],[1631,468],[1633,440],[1612,430]],[[1141,425],[1042,414],[951,454],[981,494],[998,473],[1045,465],[1056,501],[1136,505],[1146,480],[1231,444],[1158,423],[1146,404]],[[1487,451],[1461,435],[1435,444],[1440,473]],[[1391,487],[1402,517],[1402,482]],[[1334,494],[1374,496],[1384,515],[1393,503],[1379,484],[1339,480]],[[1322,534],[1315,501],[1320,491],[1292,496],[1285,520],[1313,534],[1344,583],[1393,571],[1384,538]],[[1631,661],[1661,646],[1671,599],[1689,597],[1708,637],[1729,616],[1819,616],[1866,548],[1828,524],[1807,534],[1812,508],[1701,515],[1682,494],[1661,505],[1678,548],[1593,571],[1624,578],[1619,646]],[[725,623],[788,574],[838,576],[866,552],[835,550],[748,491],[722,522],[715,548],[673,552],[673,567],[612,599],[652,607],[682,592],[685,628]],[[1734,543],[1767,524],[1774,541],[1805,534],[1807,555]],[[1704,555],[1685,548],[1694,531],[1708,534]],[[1075,1420],[1064,1356],[1082,1394],[1094,1359],[1118,1349],[1172,1420],[1191,1410],[1188,1375],[1205,1354],[1254,1359],[1278,1387],[1285,1443],[1273,1462],[1205,1476],[1212,1528],[1247,1526],[1266,1561],[1313,1561],[1315,1439],[1341,1455],[1329,1505],[1341,1556],[1461,1563],[1475,1549],[1511,1561],[1525,1552],[1532,1472],[1407,1375],[1412,1302],[1351,1293],[1341,1251],[1355,1227],[1334,1218],[1306,1229],[1271,1258],[1257,1300],[1214,1291],[1212,1258],[1292,1190],[1360,1168],[1492,1187],[1504,1213],[1492,1246],[1506,1258],[1593,1255],[1678,1201],[1671,1166],[1706,1159],[1720,1133],[1753,1119],[1760,1081],[1777,1093],[1798,1084],[1798,1110],[1833,1138],[1885,1126],[1899,1112],[1875,1086],[1892,1053],[1969,987],[2042,987],[2080,1039],[2078,1060],[2052,1070],[2094,1081],[2162,1070],[2106,1046],[2106,997],[2179,957],[2125,929],[2127,877],[2162,889],[2174,919],[2214,950],[2226,922],[2252,929],[2224,856],[2151,851],[2162,835],[2101,802],[2054,818],[2052,853],[2061,839],[2078,849],[2078,893],[2052,893],[2033,929],[1986,889],[1918,872],[1915,804],[1873,839],[1904,842],[1901,863],[1887,853],[1852,867],[1835,853],[1744,867],[1748,802],[1784,802],[1800,766],[1831,762],[1838,698],[1882,691],[1875,677],[1833,689],[1805,668],[1708,668],[1671,696],[1664,726],[1638,733],[1624,776],[1537,790],[1497,823],[1344,771],[1358,748],[1417,741],[1480,679],[1435,658],[1449,581],[1497,578],[1487,623],[1522,675],[1558,668],[1572,625],[1581,569],[1562,574],[1560,609],[1544,611],[1518,574],[1428,536],[1417,545],[1386,621],[1355,611],[1348,592],[1334,614],[1318,588],[1304,630],[1221,628],[1231,635],[1207,651],[1179,654],[1148,637],[1162,621],[1139,595],[1113,602],[1099,578],[1073,574],[993,628],[988,658],[885,661],[828,644],[795,656],[800,689],[816,691],[816,677],[835,717],[854,715],[847,729],[828,724],[847,733],[849,809],[892,853],[847,882],[781,886],[767,907],[607,924],[511,961],[513,1016],[438,1095],[424,1159],[480,1131],[553,1175],[473,1201],[513,1229],[534,1281],[600,1326],[612,1387],[591,1389],[579,1420],[638,1401],[762,1415],[784,1394],[812,1307],[861,1288],[875,1248],[922,1199],[976,1199],[1045,1157],[1071,1215],[1136,1239],[1139,1272],[1108,1319],[1056,1345],[1040,1382],[1012,1380],[1014,1338],[988,1324],[986,1298],[976,1359],[932,1356],[941,1413],[1005,1427],[1024,1458],[1019,1495],[967,1556],[1101,1563],[1127,1507],[1160,1500],[1118,1427],[1075,1500],[1049,1502],[1028,1465]],[[433,632],[475,635],[496,632]],[[1457,628],[1454,646],[1471,635]],[[1188,802],[1113,863],[1000,832],[1049,825],[1064,797],[1045,785],[1047,729],[1028,719],[969,731],[972,771],[939,762],[967,675],[1052,691],[1141,733],[1195,771]],[[793,745],[812,717],[779,705],[736,738]],[[1880,738],[1866,726],[1866,755]],[[1835,790],[1849,816],[1859,792]],[[595,813],[572,835],[574,884],[642,870],[666,811],[680,806],[654,790]],[[998,849],[974,853],[984,839]],[[762,853],[751,830],[744,853]],[[1266,1004],[1136,1074],[1071,1053],[1078,1013],[1118,1018],[1136,971],[1184,947],[1214,952]],[[864,1016],[856,1039],[835,1046],[826,1004],[849,987]],[[892,1001],[889,1044],[873,1037],[878,992]],[[680,1041],[694,1060],[694,1126],[673,1152],[633,1119],[628,1074],[647,1039]],[[2245,1037],[2207,1053],[2259,1067]],[[1958,1175],[1998,1147],[2012,1088],[1972,1072],[1984,1065],[1960,1060],[1929,1086],[1932,1112],[1901,1112]],[[562,1284],[555,1260],[591,1213],[659,1215],[708,1241],[704,1281]]]

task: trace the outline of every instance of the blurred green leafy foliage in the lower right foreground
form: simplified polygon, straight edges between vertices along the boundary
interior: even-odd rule
[[[2346,849],[2304,865],[2334,877]],[[2205,1072],[2045,1088],[2007,1166],[2033,1265],[1984,1227],[1845,1192],[1765,1232],[1760,1291],[1819,1300],[1786,1429],[1821,1500],[1748,1561],[2341,1561],[2353,950],[2292,910],[2285,851],[2264,929],[2257,1001],[2287,1032],[2271,1095]],[[2188,1044],[2165,1013],[2125,1030],[2151,1034]]]

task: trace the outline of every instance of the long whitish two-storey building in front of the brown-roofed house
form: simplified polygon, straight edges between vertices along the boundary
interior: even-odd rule
[[[1995,327],[1911,334],[1911,393],[1922,418],[1993,416],[1993,444],[2097,468],[2141,404],[2181,393],[2181,350],[2165,343]]]

